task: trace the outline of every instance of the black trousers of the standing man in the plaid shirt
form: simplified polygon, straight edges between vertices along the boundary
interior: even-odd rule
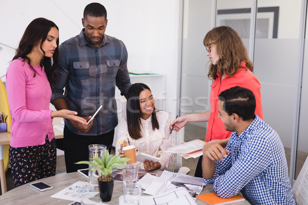
[[[76,172],[79,169],[86,169],[88,165],[76,165],[78,161],[89,160],[89,145],[105,145],[109,150],[112,148],[114,129],[101,135],[79,135],[71,132],[64,126],[64,157],[66,172]]]

